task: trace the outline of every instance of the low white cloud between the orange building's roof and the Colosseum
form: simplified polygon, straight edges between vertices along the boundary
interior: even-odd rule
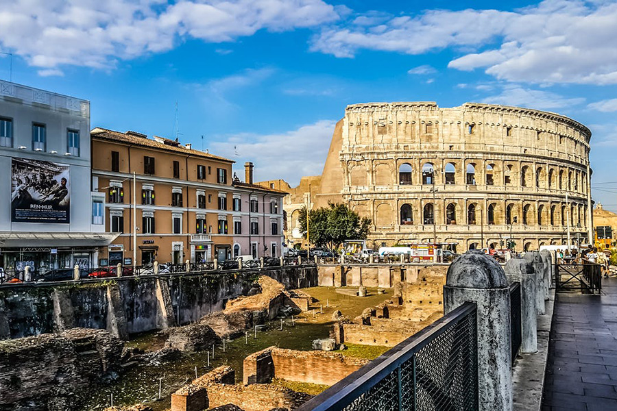
[[[336,121],[320,120],[281,134],[223,136],[210,144],[210,151],[235,160],[239,176],[244,162],[251,161],[256,181],[284,178],[295,186],[300,177],[322,173],[335,125]]]

